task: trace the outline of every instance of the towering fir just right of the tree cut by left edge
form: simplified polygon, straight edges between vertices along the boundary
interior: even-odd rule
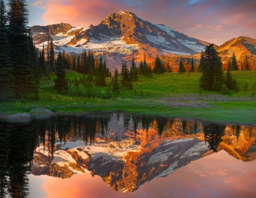
[[[30,30],[27,28],[26,1],[9,0],[9,41],[14,64],[14,91],[16,98],[38,94],[36,56]]]

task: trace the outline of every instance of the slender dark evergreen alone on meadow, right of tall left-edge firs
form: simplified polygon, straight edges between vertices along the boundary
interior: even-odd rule
[[[56,62],[56,79],[55,79],[55,89],[58,92],[63,92],[68,90],[68,82],[65,79],[65,70],[63,68],[63,60],[61,53],[59,52],[59,55],[57,57],[57,62]]]

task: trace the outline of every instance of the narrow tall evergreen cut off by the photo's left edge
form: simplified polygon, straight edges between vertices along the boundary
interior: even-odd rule
[[[13,64],[10,59],[10,45],[7,37],[6,10],[0,1],[0,102],[14,97]]]

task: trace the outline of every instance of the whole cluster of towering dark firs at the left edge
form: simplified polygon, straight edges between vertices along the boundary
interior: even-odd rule
[[[28,22],[26,1],[0,1],[0,101],[38,97],[36,49]]]

